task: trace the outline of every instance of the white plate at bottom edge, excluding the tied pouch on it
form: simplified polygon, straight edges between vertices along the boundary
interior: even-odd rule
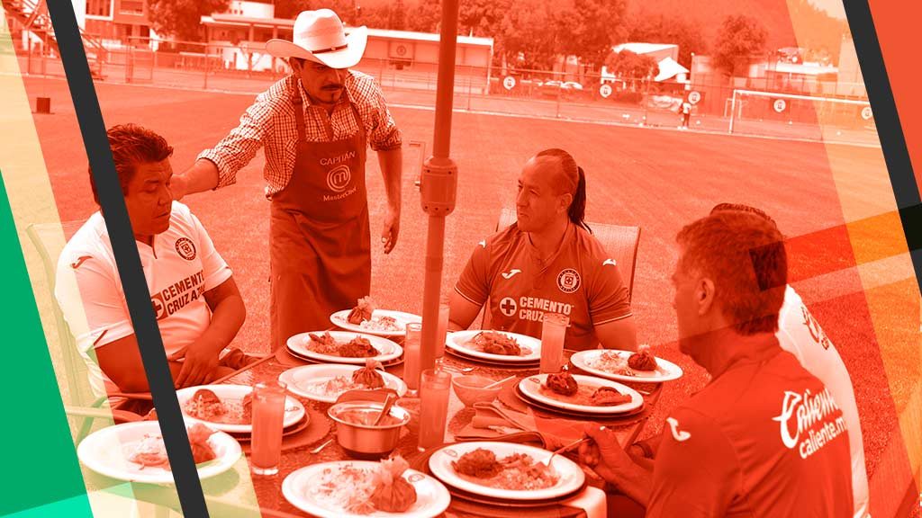
[[[416,501],[405,512],[374,508],[373,473],[379,463],[337,461],[308,465],[282,482],[282,495],[303,512],[322,518],[391,517],[432,518],[451,503],[448,489],[434,477],[408,469],[403,478],[416,491]]]

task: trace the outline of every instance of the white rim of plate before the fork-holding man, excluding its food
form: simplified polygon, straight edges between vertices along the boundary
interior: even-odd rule
[[[551,454],[547,450],[516,442],[459,442],[457,444],[445,446],[441,450],[432,453],[431,457],[429,457],[429,469],[432,475],[455,489],[461,489],[462,491],[484,497],[506,500],[546,500],[560,498],[582,488],[585,482],[585,474],[579,465],[576,465],[576,463],[563,455],[557,455],[554,457],[554,460],[551,461],[550,466],[557,472],[560,479],[557,481],[557,484],[550,488],[514,490],[482,486],[476,482],[471,482],[466,478],[462,478],[455,472],[455,467],[452,466],[452,462],[461,458],[461,455],[467,452],[473,452],[478,448],[490,450],[496,454],[497,459],[502,459],[514,453],[525,453],[531,456],[536,462],[544,462]]]

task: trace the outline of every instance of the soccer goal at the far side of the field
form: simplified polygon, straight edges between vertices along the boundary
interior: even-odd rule
[[[827,141],[877,138],[874,113],[867,100],[735,89],[727,99],[726,114],[731,134]]]

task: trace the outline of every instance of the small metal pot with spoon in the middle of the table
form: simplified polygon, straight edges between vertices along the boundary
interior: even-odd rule
[[[409,422],[409,412],[392,406],[388,417],[378,426],[372,422],[384,406],[380,402],[349,401],[330,406],[326,415],[337,423],[337,442],[352,456],[382,458],[394,451],[400,430]]]

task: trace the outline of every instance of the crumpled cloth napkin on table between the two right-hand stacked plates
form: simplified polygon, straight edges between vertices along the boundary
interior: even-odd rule
[[[583,437],[583,424],[565,418],[541,418],[530,409],[518,412],[493,401],[474,404],[471,422],[455,434],[457,441],[503,441],[522,433],[535,436],[544,448],[556,450]],[[522,438],[516,437],[521,440]]]

